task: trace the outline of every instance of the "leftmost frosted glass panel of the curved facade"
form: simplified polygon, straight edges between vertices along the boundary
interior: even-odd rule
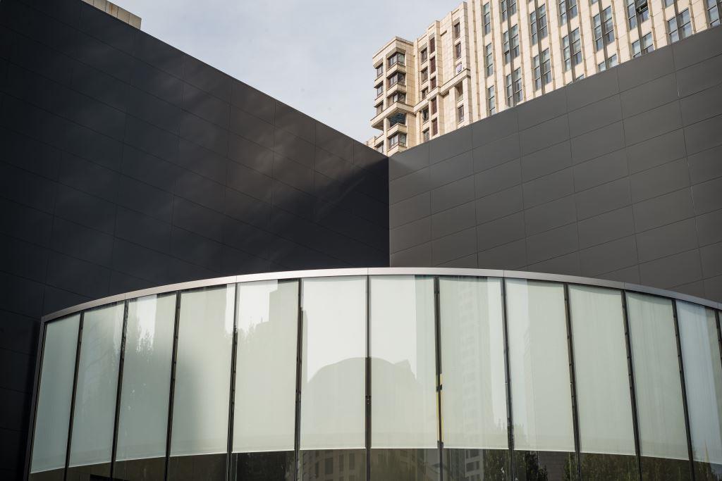
[[[45,325],[30,472],[65,466],[80,315]]]

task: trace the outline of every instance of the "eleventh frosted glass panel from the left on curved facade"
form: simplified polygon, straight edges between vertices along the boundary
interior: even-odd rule
[[[627,293],[642,456],[689,459],[669,299]]]

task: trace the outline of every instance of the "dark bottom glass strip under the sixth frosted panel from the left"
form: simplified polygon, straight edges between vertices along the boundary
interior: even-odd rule
[[[301,451],[298,469],[300,481],[363,481],[366,479],[366,451],[364,449]]]

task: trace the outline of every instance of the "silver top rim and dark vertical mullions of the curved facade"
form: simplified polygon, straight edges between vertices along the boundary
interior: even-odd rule
[[[61,311],[48,314],[41,319],[40,323],[40,335],[38,340],[38,360],[35,366],[35,377],[33,385],[32,395],[32,418],[30,419],[30,429],[28,432],[27,440],[27,463],[25,467],[25,477],[30,476],[30,456],[32,456],[32,438],[34,437],[35,428],[35,416],[37,415],[37,402],[38,402],[38,386],[40,384],[40,372],[42,369],[43,359],[43,345],[45,343],[45,332],[46,324],[52,322],[54,319],[66,317],[71,314],[80,315],[78,324],[78,339],[76,347],[76,358],[74,367],[74,379],[73,379],[73,392],[71,396],[71,412],[68,426],[68,438],[66,446],[66,463],[64,469],[64,477],[67,476],[69,467],[69,456],[73,426],[73,415],[74,405],[77,390],[77,375],[78,375],[78,364],[79,356],[82,349],[82,330],[84,324],[84,313],[89,309],[94,309],[99,306],[105,306],[108,304],[120,304],[123,302],[123,339],[121,341],[121,357],[120,364],[118,367],[118,388],[116,392],[116,409],[115,409],[115,425],[113,429],[113,455],[111,457],[110,469],[111,475],[114,474],[115,462],[116,462],[116,449],[117,449],[117,436],[118,436],[118,408],[119,399],[121,396],[121,379],[123,376],[123,358],[126,344],[126,329],[128,319],[128,301],[131,299],[137,299],[143,296],[158,295],[158,294],[175,294],[175,319],[174,319],[174,332],[173,332],[173,358],[171,363],[170,373],[170,392],[169,392],[169,405],[168,405],[168,426],[166,436],[166,455],[165,455],[165,479],[168,479],[170,471],[170,438],[173,428],[173,397],[175,394],[175,369],[178,356],[178,331],[180,322],[180,308],[181,308],[181,295],[183,291],[207,288],[211,286],[224,286],[224,285],[235,285],[235,296],[234,296],[234,317],[233,317],[233,341],[232,341],[232,366],[231,366],[231,393],[230,393],[230,404],[229,404],[229,427],[228,427],[228,456],[226,459],[227,464],[227,476],[230,476],[231,454],[232,454],[232,418],[234,411],[234,394],[235,390],[233,385],[235,384],[235,359],[237,350],[237,336],[238,336],[238,283],[253,282],[253,281],[267,281],[267,280],[287,280],[296,281],[298,285],[298,319],[297,319],[297,374],[296,374],[296,420],[295,420],[295,473],[294,477],[297,479],[298,471],[300,468],[300,363],[302,358],[302,341],[303,341],[303,278],[318,278],[318,277],[341,277],[341,276],[365,276],[366,277],[366,412],[365,412],[365,423],[367,428],[366,433],[366,471],[367,475],[370,475],[370,428],[371,428],[371,386],[370,386],[370,276],[371,275],[430,275],[434,279],[434,303],[435,303],[435,345],[436,345],[436,366],[437,366],[437,409],[440,412],[441,402],[441,366],[440,366],[440,306],[439,306],[439,277],[440,276],[464,276],[464,277],[476,277],[476,278],[500,278],[501,279],[501,296],[503,302],[503,334],[504,334],[504,356],[505,356],[505,381],[506,381],[506,396],[507,396],[507,416],[508,416],[508,440],[509,440],[509,475],[513,477],[514,474],[514,447],[513,447],[513,420],[511,411],[511,386],[510,386],[510,366],[509,366],[509,352],[508,352],[508,325],[507,325],[507,299],[506,299],[506,281],[509,278],[513,279],[525,279],[534,281],[547,281],[561,283],[565,291],[565,308],[566,308],[566,322],[567,322],[567,349],[568,355],[570,356],[570,375],[572,381],[572,397],[573,397],[573,417],[574,417],[574,429],[575,429],[575,454],[577,456],[578,469],[580,469],[580,446],[579,446],[579,433],[578,433],[578,413],[576,412],[575,403],[575,379],[574,379],[574,366],[573,366],[573,350],[571,345],[571,317],[570,317],[570,304],[568,296],[569,284],[598,286],[604,288],[614,288],[620,292],[622,296],[622,310],[624,314],[625,322],[625,341],[627,348],[627,364],[630,378],[630,394],[632,397],[632,422],[634,423],[634,434],[635,434],[635,448],[637,453],[638,469],[641,472],[640,465],[640,440],[638,434],[638,413],[637,413],[637,400],[635,393],[635,382],[634,373],[631,358],[631,342],[630,342],[630,331],[629,331],[629,318],[627,314],[627,293],[638,292],[642,294],[650,294],[653,296],[660,296],[672,301],[674,309],[674,327],[677,335],[677,354],[679,356],[679,370],[682,381],[682,395],[684,400],[684,415],[685,423],[687,428],[687,444],[690,449],[690,462],[692,462],[692,451],[691,451],[691,438],[690,438],[690,426],[689,426],[689,415],[687,412],[687,399],[686,392],[684,392],[684,371],[682,368],[681,348],[679,343],[679,324],[677,320],[677,303],[676,301],[688,301],[701,306],[705,306],[711,309],[715,309],[716,323],[718,326],[718,343],[721,345],[721,358],[722,358],[722,330],[720,329],[720,313],[722,310],[722,303],[715,301],[709,301],[707,299],[700,299],[695,296],[688,296],[686,294],[678,294],[672,291],[666,291],[664,289],[651,288],[646,286],[639,286],[636,284],[622,283],[617,281],[604,281],[593,278],[582,278],[571,275],[556,275],[556,274],[545,274],[545,273],[530,273],[525,271],[514,271],[514,270],[487,270],[487,269],[461,269],[461,268],[347,268],[347,269],[322,269],[322,270],[296,270],[280,273],[262,273],[262,274],[251,274],[251,275],[237,275],[223,278],[211,278],[201,281],[191,281],[187,283],[171,284],[168,286],[159,286],[155,288],[148,288],[141,291],[132,291],[126,294],[118,294],[116,296],[110,296],[103,299],[97,299],[96,301],[86,302],[77,306],[62,309]],[[439,420],[439,462],[440,462],[440,477],[443,477],[443,442],[441,440],[441,420]],[[693,469],[690,464],[690,469]],[[640,473],[641,474],[641,473]],[[580,473],[578,473],[580,476]]]

